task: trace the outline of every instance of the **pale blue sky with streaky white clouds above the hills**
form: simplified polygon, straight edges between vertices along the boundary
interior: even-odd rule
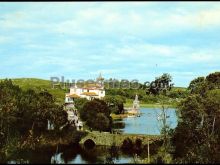
[[[0,2],[0,78],[153,81],[220,71],[219,2]]]

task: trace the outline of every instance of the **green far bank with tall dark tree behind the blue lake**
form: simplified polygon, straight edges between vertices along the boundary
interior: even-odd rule
[[[176,99],[185,98],[189,90],[181,88],[173,88],[172,77],[164,73],[163,75],[156,77],[154,81],[148,83],[139,83],[138,88],[122,88],[120,87],[120,81],[116,81],[118,86],[112,86],[112,88],[106,88],[107,96],[120,96],[122,99],[133,100],[135,95],[138,95],[138,99],[142,103],[159,103],[162,100],[167,103],[175,103]],[[131,86],[130,86],[131,87]]]

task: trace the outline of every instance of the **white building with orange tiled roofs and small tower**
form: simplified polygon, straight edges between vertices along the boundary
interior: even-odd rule
[[[105,97],[104,78],[101,74],[96,79],[96,82],[84,84],[83,87],[78,87],[76,84],[70,88],[70,92],[66,93],[65,103],[73,103],[75,98],[86,98],[92,100],[93,98],[102,99]]]

